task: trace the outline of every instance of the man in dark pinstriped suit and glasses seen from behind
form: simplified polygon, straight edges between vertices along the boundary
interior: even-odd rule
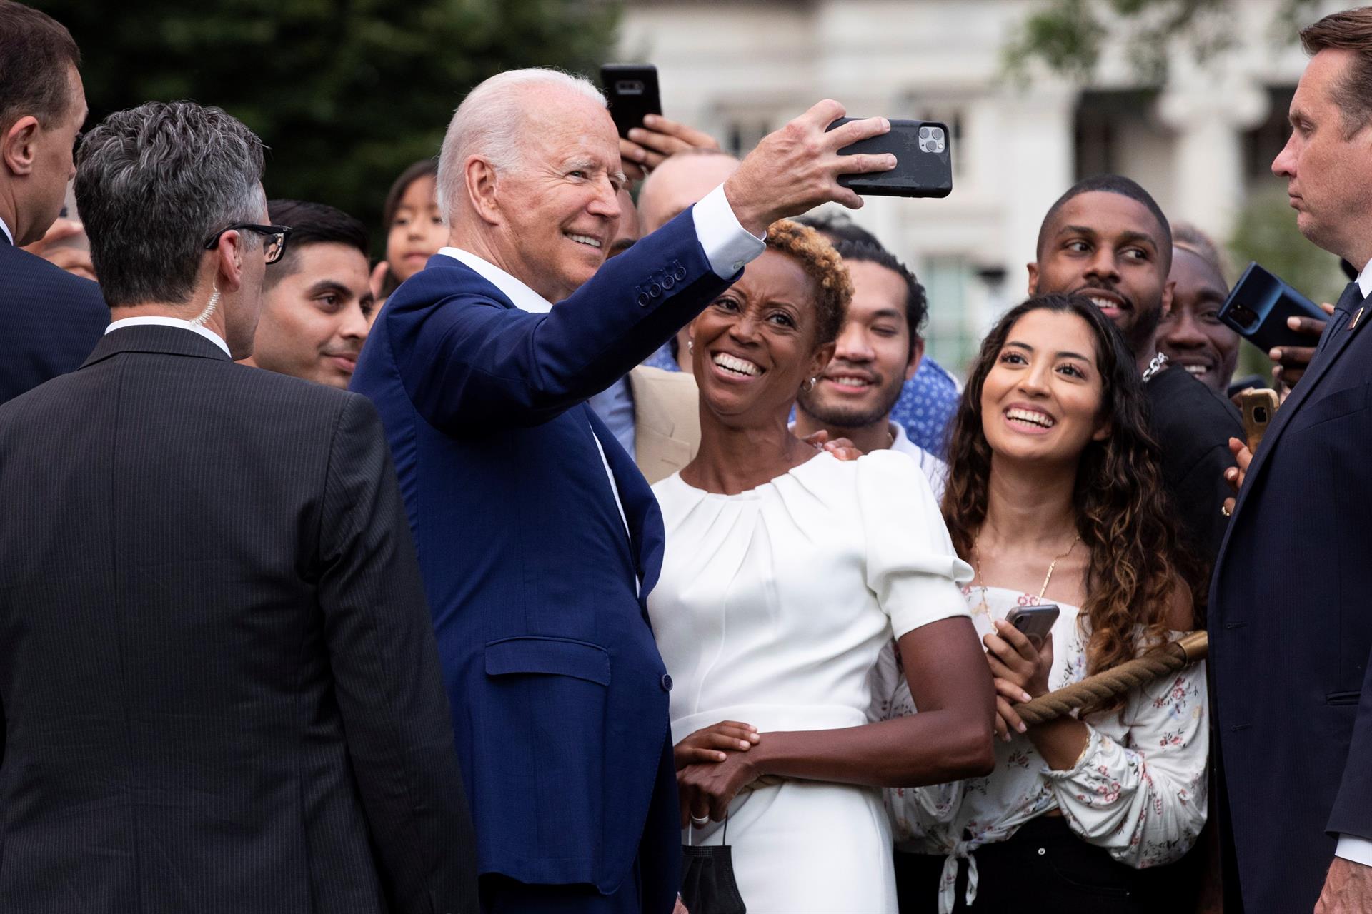
[[[82,145],[117,319],[0,407],[3,911],[476,909],[376,411],[232,360],[287,236],[261,175],[192,103]]]

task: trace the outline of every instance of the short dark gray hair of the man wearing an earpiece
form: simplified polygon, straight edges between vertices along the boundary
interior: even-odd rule
[[[262,219],[262,152],[241,121],[193,101],[148,101],[86,133],[77,207],[106,301],[189,301],[204,241]]]

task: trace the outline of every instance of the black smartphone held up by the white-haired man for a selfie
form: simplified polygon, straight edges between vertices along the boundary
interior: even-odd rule
[[[862,118],[840,118],[829,130]],[[890,133],[859,140],[838,155],[890,152],[896,167],[871,174],[845,174],[838,184],[864,196],[945,197],[952,193],[952,137],[937,121],[892,121]]]

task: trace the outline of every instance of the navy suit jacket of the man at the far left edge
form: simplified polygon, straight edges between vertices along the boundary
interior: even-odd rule
[[[80,369],[108,323],[100,286],[0,232],[0,403]]]

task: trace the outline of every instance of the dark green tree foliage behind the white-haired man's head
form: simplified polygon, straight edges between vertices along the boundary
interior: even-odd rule
[[[612,0],[27,0],[71,30],[91,122],[147,100],[225,108],[270,147],[266,190],[364,219],[438,153],[468,89],[512,67],[594,77]]]

